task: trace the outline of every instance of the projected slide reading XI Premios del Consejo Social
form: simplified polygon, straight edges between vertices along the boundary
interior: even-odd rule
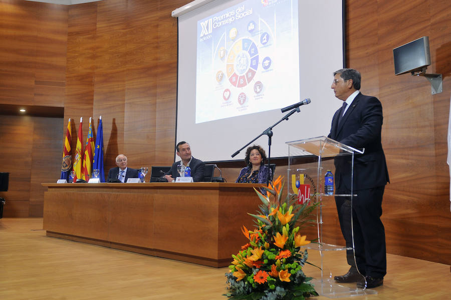
[[[196,55],[196,124],[298,102],[298,1],[248,0],[199,20]]]

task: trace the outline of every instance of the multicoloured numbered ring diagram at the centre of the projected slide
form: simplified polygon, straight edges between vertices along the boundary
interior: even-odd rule
[[[259,50],[249,38],[241,38],[232,46],[227,57],[227,77],[230,83],[242,88],[247,86],[259,67]]]

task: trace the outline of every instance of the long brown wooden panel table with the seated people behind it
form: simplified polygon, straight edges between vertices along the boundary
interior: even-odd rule
[[[262,204],[244,183],[43,183],[47,236],[227,266]]]

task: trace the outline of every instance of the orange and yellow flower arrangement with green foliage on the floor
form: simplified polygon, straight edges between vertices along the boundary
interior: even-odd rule
[[[225,274],[229,299],[246,300],[301,300],[318,295],[306,277],[302,267],[307,262],[307,250],[301,246],[309,244],[306,235],[299,233],[305,218],[316,205],[300,205],[295,197],[287,196],[282,201],[282,178],[279,176],[266,195],[255,189],[263,202],[256,218],[256,230],[243,226],[243,234],[249,242],[241,247]]]

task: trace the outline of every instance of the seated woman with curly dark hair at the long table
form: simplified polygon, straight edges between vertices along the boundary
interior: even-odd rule
[[[246,150],[245,162],[236,182],[238,183],[268,183],[268,173],[271,180],[271,169],[265,166],[266,153],[262,147],[254,145]]]

